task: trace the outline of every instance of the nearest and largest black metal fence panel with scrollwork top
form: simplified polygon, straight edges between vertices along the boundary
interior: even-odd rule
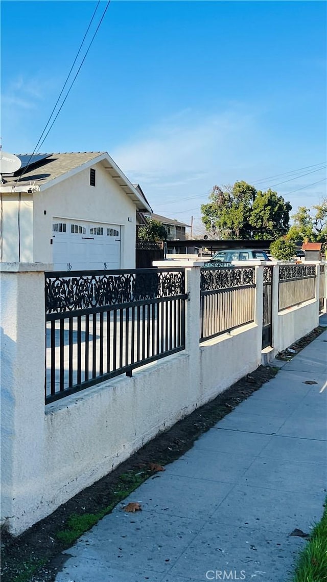
[[[45,402],[185,347],[184,269],[45,274]]]

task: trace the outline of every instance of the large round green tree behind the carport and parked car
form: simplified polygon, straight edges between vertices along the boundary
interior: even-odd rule
[[[273,190],[262,192],[247,182],[214,186],[209,203],[201,205],[208,232],[224,239],[278,239],[289,228],[292,206]]]

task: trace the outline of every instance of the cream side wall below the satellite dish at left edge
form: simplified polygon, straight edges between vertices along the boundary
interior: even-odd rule
[[[1,260],[33,261],[33,194],[1,194]]]

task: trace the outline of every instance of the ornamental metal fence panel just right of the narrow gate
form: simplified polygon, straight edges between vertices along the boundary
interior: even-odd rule
[[[278,311],[315,298],[315,265],[280,265]]]

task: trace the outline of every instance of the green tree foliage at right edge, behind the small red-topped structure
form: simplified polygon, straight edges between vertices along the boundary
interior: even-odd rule
[[[298,207],[292,218],[294,224],[287,233],[287,239],[294,242],[308,239],[312,243],[327,241],[327,198],[311,208]]]

